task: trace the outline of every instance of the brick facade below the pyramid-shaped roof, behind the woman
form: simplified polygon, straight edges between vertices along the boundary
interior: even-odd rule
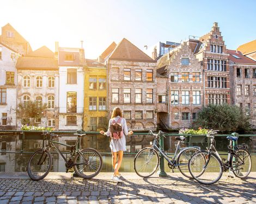
[[[130,80],[125,80],[124,78],[124,69],[130,69]],[[140,69],[142,73],[142,80],[135,80],[136,69]],[[147,81],[147,71],[153,73],[153,80]],[[111,116],[111,112],[114,107],[118,106],[126,112],[126,122],[129,129],[132,130],[145,130],[152,127],[156,127],[156,104],[157,104],[157,93],[156,93],[156,63],[155,62],[136,62],[136,61],[121,61],[121,60],[109,60],[107,66],[108,72],[108,117]],[[113,88],[117,89],[115,91],[119,96],[119,99],[116,103],[113,103],[114,99],[112,95]],[[128,91],[127,97],[130,94],[130,101],[127,103],[124,101],[124,90]],[[129,93],[130,90],[130,93]],[[136,103],[136,93],[135,91],[141,91],[137,93],[139,99]],[[153,97],[152,102],[147,103],[147,90],[148,90],[148,102],[150,97]],[[152,93],[149,91],[153,90]],[[141,94],[141,97],[138,96]],[[150,95],[149,95],[150,94]],[[129,99],[127,99],[129,100]],[[130,103],[129,103],[130,102]],[[141,113],[140,113],[141,111]],[[153,117],[149,117],[150,113],[147,111],[153,112]],[[136,113],[136,116],[135,116]],[[140,117],[140,114],[142,117]],[[139,118],[139,119],[137,119]]]

